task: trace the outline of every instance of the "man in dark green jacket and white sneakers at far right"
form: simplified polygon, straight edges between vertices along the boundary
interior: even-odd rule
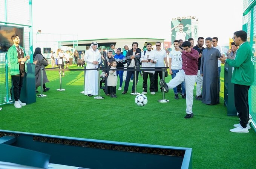
[[[235,107],[240,118],[239,124],[235,124],[229,131],[235,133],[248,133],[250,129],[248,91],[254,81],[254,56],[247,42],[247,33],[243,30],[234,33],[233,40],[239,49],[236,51],[235,60],[221,57],[219,60],[234,67],[231,82],[234,83]]]

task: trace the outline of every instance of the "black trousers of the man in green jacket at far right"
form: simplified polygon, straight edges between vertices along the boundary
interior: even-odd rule
[[[234,84],[235,107],[240,118],[240,125],[246,127],[249,120],[248,91],[250,86]]]

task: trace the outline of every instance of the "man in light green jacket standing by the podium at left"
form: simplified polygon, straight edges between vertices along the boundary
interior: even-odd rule
[[[26,103],[20,101],[20,91],[23,84],[23,77],[25,72],[27,72],[26,61],[30,56],[26,56],[25,50],[20,47],[20,38],[18,35],[12,35],[11,39],[13,45],[9,48],[7,57],[10,63],[9,69],[12,77],[12,89],[15,99],[14,107],[21,108],[21,106],[26,106]]]

